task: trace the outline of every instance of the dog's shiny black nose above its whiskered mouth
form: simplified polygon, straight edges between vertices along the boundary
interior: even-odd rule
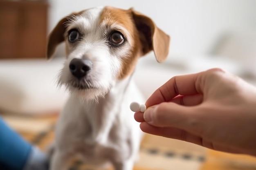
[[[90,60],[74,58],[70,62],[70,72],[77,78],[84,77],[90,69],[92,69]]]

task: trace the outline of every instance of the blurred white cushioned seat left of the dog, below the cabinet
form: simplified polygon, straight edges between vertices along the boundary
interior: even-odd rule
[[[0,110],[47,114],[61,110],[68,94],[56,86],[63,58],[0,61]]]

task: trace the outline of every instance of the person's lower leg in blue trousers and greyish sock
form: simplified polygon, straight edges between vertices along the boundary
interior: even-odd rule
[[[0,117],[0,170],[47,170],[47,157]]]

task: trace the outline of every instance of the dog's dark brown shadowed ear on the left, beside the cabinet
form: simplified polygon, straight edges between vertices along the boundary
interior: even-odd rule
[[[47,42],[47,59],[53,57],[54,52],[58,44],[65,40],[64,33],[66,31],[65,23],[69,21],[69,18],[72,18],[79,13],[72,13],[65,18],[62,18],[58,24],[54,27],[52,32],[49,35],[48,42]]]

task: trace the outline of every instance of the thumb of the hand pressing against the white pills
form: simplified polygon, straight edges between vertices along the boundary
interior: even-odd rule
[[[176,127],[184,130],[198,125],[197,106],[182,106],[173,102],[163,102],[147,108],[144,120],[157,127]]]

